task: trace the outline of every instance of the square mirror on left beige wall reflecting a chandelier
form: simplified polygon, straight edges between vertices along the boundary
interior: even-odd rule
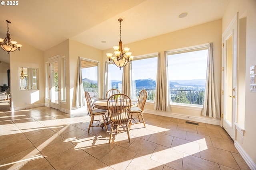
[[[38,68],[19,68],[20,90],[38,89]]]

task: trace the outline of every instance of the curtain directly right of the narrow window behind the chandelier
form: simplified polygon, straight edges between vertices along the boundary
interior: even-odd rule
[[[131,64],[126,64],[123,67],[123,77],[122,77],[122,94],[126,94],[131,97],[131,87],[132,87],[132,78],[131,78]]]

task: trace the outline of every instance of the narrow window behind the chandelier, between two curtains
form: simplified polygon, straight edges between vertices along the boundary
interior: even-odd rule
[[[120,69],[113,63],[108,64],[108,90],[118,89],[122,92],[122,75],[123,68]]]

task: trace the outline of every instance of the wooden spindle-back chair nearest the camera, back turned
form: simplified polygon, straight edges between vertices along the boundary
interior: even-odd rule
[[[128,140],[130,142],[129,117],[131,104],[131,99],[126,94],[114,94],[108,98],[108,114],[111,123],[109,143],[111,142],[112,133],[119,133],[120,131],[127,131]],[[126,125],[126,128],[124,125]],[[123,127],[123,129],[120,130],[120,127]]]

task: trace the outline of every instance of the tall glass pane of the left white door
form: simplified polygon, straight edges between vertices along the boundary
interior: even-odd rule
[[[51,63],[51,102],[59,103],[58,62]]]

